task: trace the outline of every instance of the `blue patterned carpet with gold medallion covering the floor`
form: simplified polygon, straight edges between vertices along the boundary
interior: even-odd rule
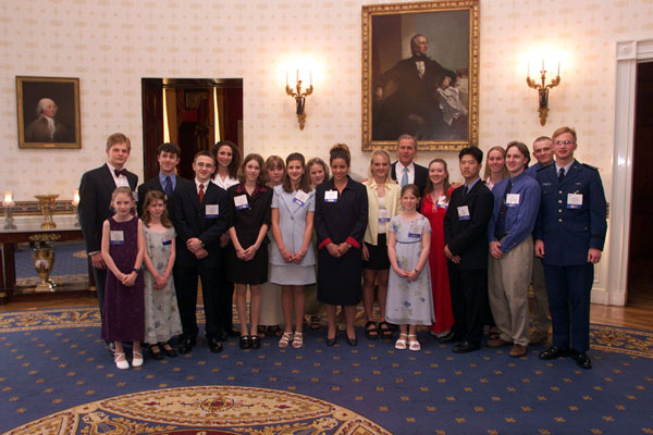
[[[119,371],[95,308],[0,314],[0,432],[9,434],[652,434],[653,333],[592,326],[594,369],[533,347],[452,353],[391,341],[190,355]]]

